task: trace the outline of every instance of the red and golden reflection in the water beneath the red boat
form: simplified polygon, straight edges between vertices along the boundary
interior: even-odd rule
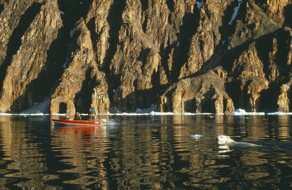
[[[70,167],[57,173],[70,173],[75,177],[64,180],[65,184],[79,184],[96,188],[108,188],[104,166],[109,139],[105,127],[56,127],[52,129],[52,151],[60,162]]]

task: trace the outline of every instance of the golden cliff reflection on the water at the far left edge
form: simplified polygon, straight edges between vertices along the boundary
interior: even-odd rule
[[[43,163],[44,154],[35,142],[36,133],[27,126],[34,125],[34,120],[20,119],[12,116],[1,116],[1,183],[17,184],[18,187],[50,187],[46,181],[55,175],[44,175],[47,170]],[[24,125],[23,125],[24,124]],[[4,181],[4,182],[3,182]],[[14,186],[11,186],[14,187]],[[13,188],[12,188],[13,189]]]

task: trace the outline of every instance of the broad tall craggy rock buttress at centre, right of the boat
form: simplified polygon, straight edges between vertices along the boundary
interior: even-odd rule
[[[118,79],[121,85],[112,86],[113,105],[123,112],[151,106],[157,98],[153,88],[168,82],[159,54],[159,47],[166,46],[165,38],[171,32],[167,28],[167,5],[164,1],[153,1],[145,15],[141,15],[141,9],[139,1],[135,5],[126,1],[119,31],[120,45],[110,63],[111,75],[121,75]],[[162,15],[158,17],[158,13]]]

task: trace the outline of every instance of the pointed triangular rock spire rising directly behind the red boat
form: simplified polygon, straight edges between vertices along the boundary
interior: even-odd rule
[[[76,33],[76,47],[72,51],[69,66],[65,69],[61,82],[51,97],[51,113],[64,111],[74,113],[75,109],[85,110],[91,102],[95,104],[99,113],[107,113],[109,110],[107,84],[104,75],[97,69],[91,34],[83,18],[76,23],[74,33]],[[88,95],[92,91],[90,83],[97,84],[93,87],[92,95]],[[91,102],[88,102],[89,97]],[[74,101],[77,102],[76,106]],[[63,110],[61,105],[64,105]]]

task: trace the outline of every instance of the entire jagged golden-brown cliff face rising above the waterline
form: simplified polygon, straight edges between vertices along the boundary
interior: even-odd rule
[[[291,111],[292,0],[0,0],[0,112]]]

